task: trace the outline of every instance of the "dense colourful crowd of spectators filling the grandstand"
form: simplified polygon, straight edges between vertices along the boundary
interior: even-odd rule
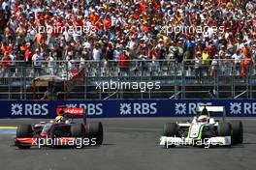
[[[246,75],[256,59],[255,0],[0,2],[1,76],[16,61],[41,70],[57,60],[115,60],[125,70],[129,60],[165,59]]]

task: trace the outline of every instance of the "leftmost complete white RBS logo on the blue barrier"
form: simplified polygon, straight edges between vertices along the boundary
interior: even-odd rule
[[[12,115],[32,115],[32,116],[46,116],[48,115],[48,104],[12,104]]]

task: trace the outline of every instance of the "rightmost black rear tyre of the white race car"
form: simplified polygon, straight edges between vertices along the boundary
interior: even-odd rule
[[[231,121],[230,124],[232,127],[232,143],[241,144],[243,141],[243,128],[241,121]]]

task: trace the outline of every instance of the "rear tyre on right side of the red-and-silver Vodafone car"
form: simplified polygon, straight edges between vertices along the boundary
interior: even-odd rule
[[[101,122],[87,124],[87,133],[88,133],[88,137],[90,140],[95,140],[96,145],[102,145],[102,143],[103,143],[103,126],[102,126]]]

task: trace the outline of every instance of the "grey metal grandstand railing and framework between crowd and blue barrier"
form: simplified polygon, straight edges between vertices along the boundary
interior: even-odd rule
[[[240,63],[242,63],[241,61]],[[42,99],[48,87],[33,87],[42,75],[57,75],[62,90],[49,83],[53,98],[65,99],[184,99],[184,98],[255,98],[256,64],[238,64],[234,60],[127,61],[2,61],[0,99]],[[54,80],[52,80],[54,81]],[[159,82],[160,89],[114,88],[102,91],[97,84],[114,82]],[[61,88],[60,88],[61,89]],[[56,95],[57,94],[57,95]]]

